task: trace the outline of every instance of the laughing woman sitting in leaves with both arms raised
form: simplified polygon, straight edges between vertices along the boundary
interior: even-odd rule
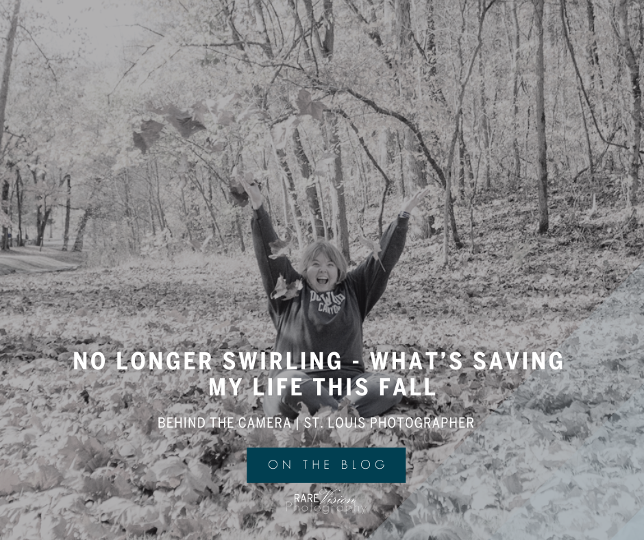
[[[304,251],[298,272],[286,257],[270,258],[269,244],[277,240],[277,235],[264,209],[264,197],[256,184],[243,185],[254,210],[253,244],[277,329],[275,351],[282,358],[290,352],[295,365],[301,362],[303,353],[306,358],[314,353],[324,360],[323,365],[307,365],[304,370],[273,370],[271,378],[287,381],[280,385],[281,395],[273,391],[273,395],[264,397],[264,413],[295,418],[304,403],[315,414],[323,406],[338,408],[345,395],[361,417],[384,413],[401,400],[401,395],[393,395],[395,378],[391,377],[381,389],[382,376],[365,373],[362,321],[384,293],[389,274],[402,253],[410,212],[429,190],[421,190],[404,202],[397,219],[380,239],[380,260],[369,256],[347,272],[347,261],[340,251],[328,242],[318,241]],[[280,276],[286,284],[301,280],[301,289],[293,289],[294,296],[288,299],[273,297]],[[295,391],[290,384],[293,378],[301,380]],[[277,389],[277,384],[272,386]]]

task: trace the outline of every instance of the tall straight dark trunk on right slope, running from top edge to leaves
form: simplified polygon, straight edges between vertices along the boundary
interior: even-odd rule
[[[548,232],[548,169],[547,147],[545,140],[545,101],[543,96],[543,3],[544,0],[534,1],[536,19],[536,182],[539,199],[539,234]]]

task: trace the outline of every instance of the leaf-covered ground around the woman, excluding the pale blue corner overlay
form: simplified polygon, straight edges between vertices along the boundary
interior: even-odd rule
[[[364,323],[364,354],[458,350],[467,358],[473,351],[556,350],[639,264],[644,237],[639,215],[606,210],[581,219],[570,216],[564,201],[560,205],[552,210],[552,234],[537,238],[528,232],[532,203],[486,201],[475,214],[475,249],[454,255],[447,269],[441,235],[412,236]],[[356,259],[368,255],[357,242],[353,249]],[[145,532],[210,539],[249,527],[271,537],[320,526],[365,534],[468,434],[159,430],[159,416],[263,415],[241,371],[225,373],[245,377],[240,397],[221,398],[208,395],[208,377],[218,373],[119,372],[112,361],[116,351],[127,357],[208,351],[219,368],[227,350],[269,349],[275,332],[249,254],[160,253],[114,268],[5,275],[0,292],[3,539]],[[107,354],[106,369],[73,370],[74,352],[96,351]],[[422,376],[432,378],[436,397],[406,400],[389,415],[471,416],[476,426],[525,373],[453,371],[437,363]],[[332,417],[351,414],[344,408]],[[320,486],[246,484],[249,445],[404,445],[408,482],[343,486],[343,495],[359,496],[367,506],[364,514],[293,515],[284,505],[289,494]]]

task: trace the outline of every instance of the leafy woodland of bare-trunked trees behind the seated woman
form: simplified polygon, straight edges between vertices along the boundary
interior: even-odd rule
[[[447,225],[444,263],[497,195],[539,234],[609,209],[637,226],[639,3],[148,4],[112,65],[49,53],[47,21],[5,6],[3,249],[55,223],[62,249],[89,227],[110,260],[244,251],[239,177],[295,249],[349,258],[426,185],[414,232]]]

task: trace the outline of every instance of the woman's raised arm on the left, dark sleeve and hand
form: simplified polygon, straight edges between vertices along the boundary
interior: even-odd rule
[[[299,273],[295,271],[290,261],[286,257],[271,259],[271,242],[277,240],[277,234],[273,229],[273,223],[269,213],[264,208],[264,196],[259,186],[255,183],[241,181],[253,207],[253,220],[251,227],[253,231],[253,247],[257,258],[260,273],[262,274],[262,283],[264,291],[269,296],[273,307],[279,311],[280,299],[271,299],[271,293],[275,290],[275,285],[280,275],[284,277],[287,283],[292,283],[299,278]]]

